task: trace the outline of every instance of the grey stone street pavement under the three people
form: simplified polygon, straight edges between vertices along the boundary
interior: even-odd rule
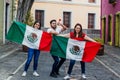
[[[12,50],[14,50],[12,54],[1,57]],[[46,52],[41,52],[39,57],[38,73],[40,77],[34,77],[32,75],[33,63],[30,64],[27,76],[21,77],[27,58],[26,54],[26,52],[21,51],[21,46],[18,44],[8,43],[0,46],[0,80],[63,80],[63,77],[67,73],[69,60],[61,67],[61,75],[58,78],[52,78],[49,76],[49,73],[53,59]],[[105,54],[103,56],[96,56],[92,63],[86,63],[87,80],[120,80],[119,66],[120,48],[105,45]],[[81,80],[80,72],[80,64],[76,62],[71,80]]]

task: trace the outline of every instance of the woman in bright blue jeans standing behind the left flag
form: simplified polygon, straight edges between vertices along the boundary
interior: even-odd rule
[[[35,21],[34,25],[33,25],[33,28],[40,29],[40,23],[38,21]],[[34,76],[39,76],[39,74],[36,71],[37,71],[37,66],[38,66],[38,59],[39,59],[39,55],[40,55],[40,50],[32,49],[32,48],[28,49],[28,58],[27,58],[25,68],[24,68],[24,72],[23,72],[22,76],[26,76],[27,70],[28,70],[28,67],[31,63],[33,55],[34,55],[34,64],[33,64],[33,71],[34,72],[33,72],[33,75]]]

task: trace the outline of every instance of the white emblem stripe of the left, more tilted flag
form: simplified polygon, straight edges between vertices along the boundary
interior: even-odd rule
[[[37,35],[37,37],[32,38],[32,35],[31,35],[32,33]],[[39,45],[40,45],[42,33],[43,33],[43,31],[41,31],[41,30],[37,30],[37,29],[32,28],[30,26],[26,26],[26,32],[25,32],[22,44],[26,45],[30,48],[33,48],[33,49],[38,49]]]

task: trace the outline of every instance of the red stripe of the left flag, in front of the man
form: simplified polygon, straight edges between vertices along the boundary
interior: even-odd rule
[[[51,42],[52,42],[51,34],[47,32],[43,32],[41,40],[40,40],[39,50],[50,51]]]

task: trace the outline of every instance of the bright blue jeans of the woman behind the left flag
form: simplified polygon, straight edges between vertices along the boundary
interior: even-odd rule
[[[28,58],[25,64],[25,68],[24,71],[28,70],[28,67],[32,61],[32,57],[34,55],[34,64],[33,64],[33,70],[36,71],[37,70],[37,66],[38,66],[38,59],[39,59],[39,55],[40,55],[40,50],[37,49],[28,49]]]

